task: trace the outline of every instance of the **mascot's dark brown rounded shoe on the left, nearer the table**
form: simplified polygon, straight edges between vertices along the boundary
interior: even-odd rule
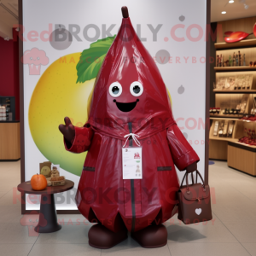
[[[114,233],[102,224],[93,225],[88,232],[90,246],[99,249],[111,248],[119,242],[124,241],[127,237],[127,230]]]

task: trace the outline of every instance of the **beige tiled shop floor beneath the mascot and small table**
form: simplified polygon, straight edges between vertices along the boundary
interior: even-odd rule
[[[0,256],[256,256],[256,178],[228,168],[226,162],[215,161],[210,166],[210,185],[215,191],[212,221],[184,225],[172,218],[166,222],[167,245],[156,249],[140,247],[131,237],[108,250],[92,248],[87,239],[91,224],[79,214],[58,215],[60,231],[33,236],[20,224],[20,203],[13,202],[20,162],[0,162],[0,172]]]

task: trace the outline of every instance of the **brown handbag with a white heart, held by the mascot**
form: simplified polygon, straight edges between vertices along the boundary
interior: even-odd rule
[[[204,183],[200,172],[196,172],[196,181],[194,183],[193,172],[191,172],[192,184],[188,183],[189,173],[186,172],[186,185],[181,183],[180,189],[177,191],[178,215],[177,218],[182,220],[184,224],[194,224],[205,222],[212,219],[212,207],[210,187]],[[197,176],[201,177],[201,183],[197,183]]]

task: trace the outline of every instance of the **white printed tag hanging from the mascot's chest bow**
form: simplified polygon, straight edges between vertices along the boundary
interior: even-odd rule
[[[123,179],[143,178],[142,148],[122,148]]]

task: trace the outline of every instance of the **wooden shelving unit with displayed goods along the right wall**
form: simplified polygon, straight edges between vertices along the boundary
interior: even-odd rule
[[[218,22],[218,26],[222,26],[223,32],[252,32],[255,22],[256,17],[250,17],[240,20],[221,21]],[[245,128],[256,130],[256,122],[254,124],[253,121],[241,119],[244,116],[243,113],[250,113],[251,109],[254,108],[253,96],[256,96],[256,67],[250,67],[249,65],[251,61],[256,61],[256,38],[252,34],[240,42],[226,43],[224,42],[222,33],[217,35],[217,42],[218,43],[214,44],[216,49],[216,63],[218,62],[217,56],[220,57],[220,55],[222,55],[222,61],[224,61],[224,63],[230,61],[230,58],[233,62],[234,54],[238,55],[238,51],[240,51],[240,63],[241,65],[244,64],[244,66],[214,67],[216,84],[218,84],[219,81],[224,85],[224,79],[227,79],[226,82],[229,83],[229,81],[233,81],[234,78],[249,76],[250,89],[235,90],[234,87],[231,87],[232,90],[227,90],[227,88],[218,87],[218,89],[215,88],[215,90],[213,90],[216,108],[236,108],[237,104],[243,104],[245,102],[247,105],[244,106],[245,110],[239,114],[223,114],[222,112],[219,114],[210,114],[212,125],[209,131],[209,157],[218,160],[228,160],[228,166],[256,176],[256,147],[238,143],[241,137],[246,136]],[[237,63],[236,61],[235,65]],[[217,64],[215,65],[217,66]],[[224,90],[220,90],[222,88]],[[217,128],[217,126],[215,126],[216,122],[218,122],[219,131],[220,127],[223,127],[224,124],[226,125],[227,121],[229,122],[227,133],[231,128],[230,124],[234,125],[232,137],[214,138],[213,132],[214,128]]]

